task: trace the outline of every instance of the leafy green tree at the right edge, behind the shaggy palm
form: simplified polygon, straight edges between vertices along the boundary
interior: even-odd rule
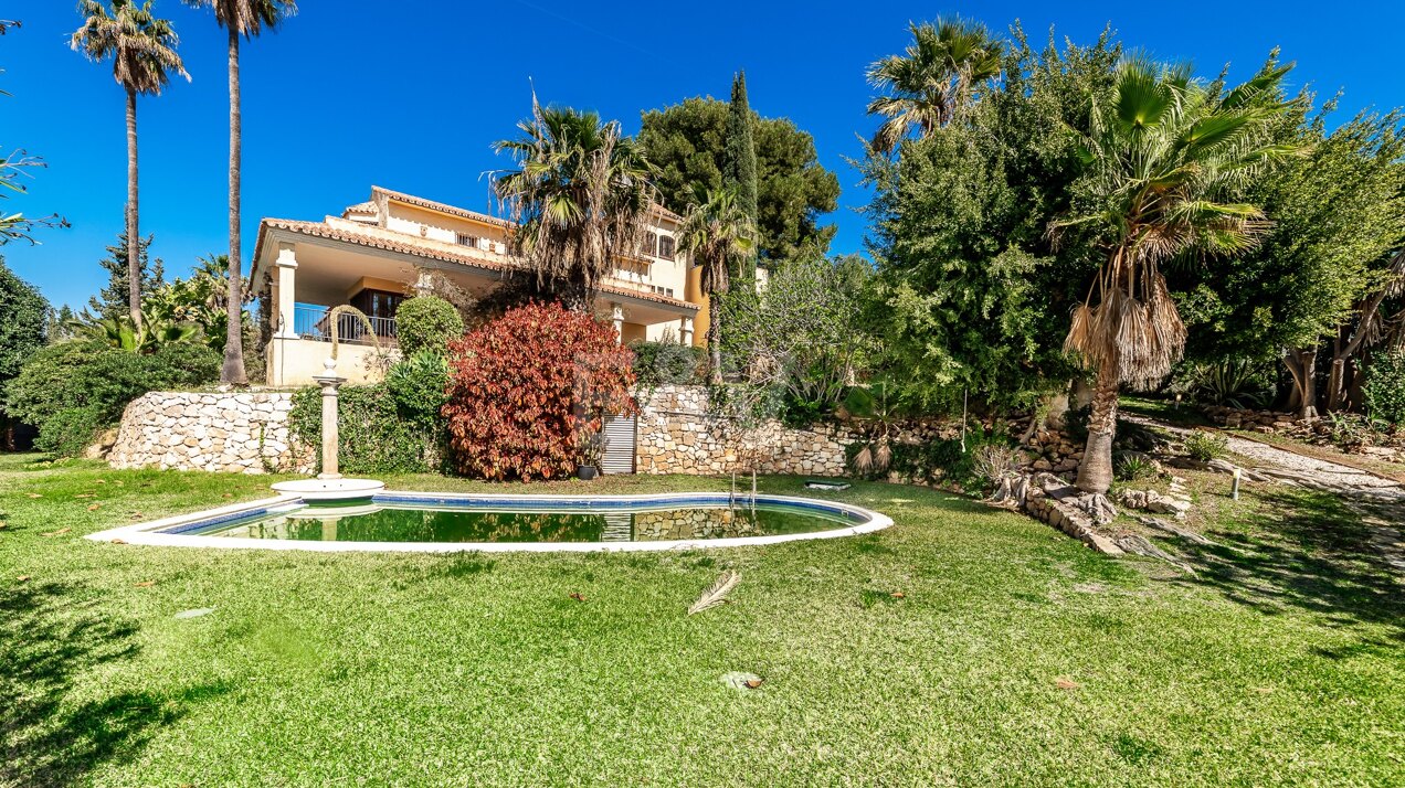
[[[1309,152],[1255,180],[1245,198],[1273,221],[1257,249],[1169,271],[1190,330],[1187,358],[1277,361],[1284,348],[1336,336],[1405,240],[1405,124],[1363,114],[1326,133],[1333,104],[1309,117],[1301,94],[1279,124]],[[1194,274],[1198,285],[1177,280]],[[1177,284],[1180,285],[1177,288]]]

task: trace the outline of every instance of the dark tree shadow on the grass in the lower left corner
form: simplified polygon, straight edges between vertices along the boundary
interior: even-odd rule
[[[60,583],[0,591],[0,784],[81,781],[103,763],[131,757],[155,729],[183,714],[183,701],[223,692],[195,687],[176,695],[86,697],[77,678],[135,657],[138,629],[81,600]]]

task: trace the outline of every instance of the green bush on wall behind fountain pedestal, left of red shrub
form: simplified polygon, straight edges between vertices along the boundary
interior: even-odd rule
[[[343,473],[424,473],[440,469],[444,447],[441,424],[427,427],[402,409],[386,383],[343,386],[337,430],[337,462]],[[292,433],[322,457],[322,392],[292,395],[288,414]]]

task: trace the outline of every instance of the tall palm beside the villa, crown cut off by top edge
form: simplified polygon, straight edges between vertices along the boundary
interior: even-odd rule
[[[243,294],[240,292],[239,270],[242,257],[239,249],[239,184],[242,125],[239,98],[239,38],[254,38],[277,27],[298,13],[295,0],[185,0],[187,6],[211,8],[215,21],[225,28],[229,39],[229,295],[225,299],[228,326],[225,327],[225,365],[219,381],[226,385],[244,386],[249,375],[244,372],[243,339]]]

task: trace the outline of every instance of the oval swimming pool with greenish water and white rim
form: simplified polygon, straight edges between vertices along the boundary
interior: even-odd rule
[[[887,528],[861,507],[791,496],[284,494],[91,534],[126,544],[341,551],[658,551],[823,539]]]

